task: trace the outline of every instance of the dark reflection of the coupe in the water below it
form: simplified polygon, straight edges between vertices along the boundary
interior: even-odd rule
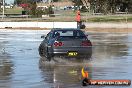
[[[92,52],[91,52],[92,55]],[[81,69],[85,67],[91,75],[91,57],[88,59],[76,58],[56,58],[56,60],[46,61],[40,58],[39,67],[42,71],[44,82],[53,84],[53,87],[71,87],[81,86]]]

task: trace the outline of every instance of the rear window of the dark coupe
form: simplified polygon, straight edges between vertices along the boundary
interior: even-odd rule
[[[86,38],[85,34],[80,30],[57,30],[54,32],[53,37],[57,36],[60,38]]]

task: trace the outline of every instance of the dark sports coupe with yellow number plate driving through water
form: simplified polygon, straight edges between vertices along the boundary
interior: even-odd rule
[[[54,56],[89,58],[92,43],[77,29],[52,29],[39,46],[39,54],[51,60]]]

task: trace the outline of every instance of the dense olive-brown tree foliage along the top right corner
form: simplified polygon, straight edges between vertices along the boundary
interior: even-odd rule
[[[94,13],[132,12],[132,0],[72,0],[72,2],[77,6],[85,5]]]

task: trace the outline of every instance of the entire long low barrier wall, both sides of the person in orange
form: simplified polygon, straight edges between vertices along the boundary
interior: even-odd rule
[[[132,23],[85,23],[86,28],[132,28]],[[77,22],[0,22],[0,28],[77,28]]]

